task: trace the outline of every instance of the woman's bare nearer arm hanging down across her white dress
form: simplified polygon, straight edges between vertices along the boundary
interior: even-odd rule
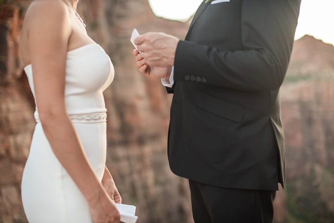
[[[110,205],[113,203],[90,165],[66,112],[65,66],[67,45],[72,32],[68,13],[61,1],[52,0],[32,3],[26,14],[28,52],[39,119],[55,156],[90,206],[101,206],[108,215],[114,215],[115,221],[119,219],[119,213],[116,207]],[[99,214],[101,217],[105,215]],[[94,219],[94,213],[92,216]]]

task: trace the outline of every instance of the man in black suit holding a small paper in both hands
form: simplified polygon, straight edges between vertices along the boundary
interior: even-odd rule
[[[141,73],[173,93],[171,170],[189,179],[195,223],[273,222],[285,186],[279,89],[300,0],[207,0],[185,40],[135,39]]]

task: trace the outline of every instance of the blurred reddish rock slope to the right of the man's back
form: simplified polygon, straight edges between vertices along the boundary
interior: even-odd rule
[[[288,183],[278,223],[334,222],[333,87],[333,45],[296,41],[281,88]]]

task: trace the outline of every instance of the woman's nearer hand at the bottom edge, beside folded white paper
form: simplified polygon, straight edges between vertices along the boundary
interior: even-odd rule
[[[120,213],[104,188],[88,203],[94,223],[120,223]]]

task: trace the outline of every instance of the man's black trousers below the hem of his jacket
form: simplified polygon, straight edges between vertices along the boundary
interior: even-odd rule
[[[195,223],[272,223],[276,191],[219,188],[189,180]]]

